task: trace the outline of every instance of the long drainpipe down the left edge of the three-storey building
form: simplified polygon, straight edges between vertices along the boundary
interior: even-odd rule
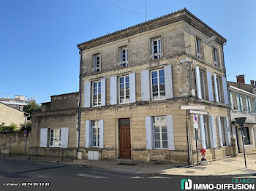
[[[79,105],[78,105],[78,148],[77,148],[77,158],[78,151],[80,147],[80,126],[81,126],[81,87],[82,87],[82,57],[83,50],[80,50],[80,71],[79,71]]]

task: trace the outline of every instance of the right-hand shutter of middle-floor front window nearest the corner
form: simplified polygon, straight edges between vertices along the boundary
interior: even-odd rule
[[[167,99],[173,98],[173,77],[172,66],[165,66],[165,97]]]

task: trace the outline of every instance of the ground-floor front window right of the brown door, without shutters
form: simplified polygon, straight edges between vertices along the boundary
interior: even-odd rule
[[[167,126],[166,117],[157,116],[153,117],[154,126],[154,148],[155,149],[167,149]]]

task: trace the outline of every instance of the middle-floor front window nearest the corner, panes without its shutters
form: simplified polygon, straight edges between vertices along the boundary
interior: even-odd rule
[[[151,97],[153,100],[165,98],[165,70],[151,71]]]

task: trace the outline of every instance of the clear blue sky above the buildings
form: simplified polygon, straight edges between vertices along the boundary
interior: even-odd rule
[[[147,0],[147,18],[184,7],[227,39],[227,80],[256,80],[256,1]],[[143,23],[143,14],[145,0],[0,0],[1,98],[42,103],[78,91],[77,44]]]

